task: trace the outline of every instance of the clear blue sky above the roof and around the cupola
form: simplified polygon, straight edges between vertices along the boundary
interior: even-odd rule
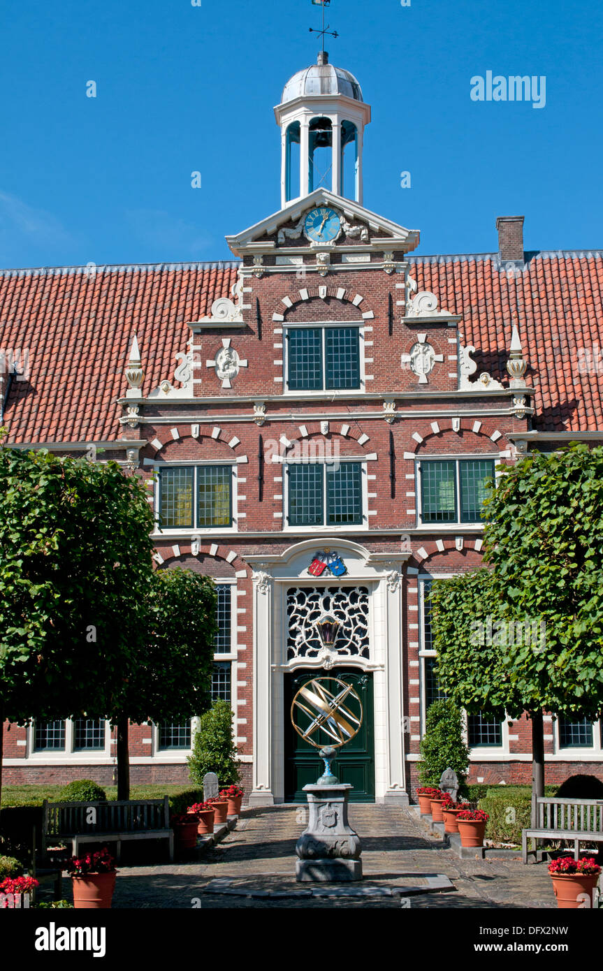
[[[311,0],[3,11],[0,266],[227,259],[226,234],[279,209],[272,109],[316,60]],[[599,3],[333,0],[328,17],[330,59],[373,109],[364,203],[419,229],[419,252],[493,251],[496,216],[518,214],[527,250],[603,248]],[[488,70],[545,76],[545,107],[473,101]]]

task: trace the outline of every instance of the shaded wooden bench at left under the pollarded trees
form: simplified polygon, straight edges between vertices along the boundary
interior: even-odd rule
[[[42,849],[53,842],[71,841],[72,853],[85,843],[121,843],[128,840],[169,840],[170,860],[174,859],[174,830],[170,826],[170,806],[163,799],[129,799],[120,802],[48,802],[44,800]]]

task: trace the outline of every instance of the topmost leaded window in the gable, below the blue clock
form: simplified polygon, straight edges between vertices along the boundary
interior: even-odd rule
[[[288,327],[285,347],[289,391],[360,387],[359,327]]]

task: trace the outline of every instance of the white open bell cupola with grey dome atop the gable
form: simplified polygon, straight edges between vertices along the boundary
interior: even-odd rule
[[[318,62],[285,84],[275,108],[281,126],[281,205],[326,188],[362,205],[362,144],[371,108],[343,68]]]

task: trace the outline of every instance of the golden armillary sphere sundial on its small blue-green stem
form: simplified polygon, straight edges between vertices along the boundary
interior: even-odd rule
[[[335,785],[338,779],[331,773],[331,762],[336,749],[350,742],[362,724],[362,702],[352,686],[339,678],[313,678],[293,698],[291,723],[319,750],[324,773],[317,785]]]

